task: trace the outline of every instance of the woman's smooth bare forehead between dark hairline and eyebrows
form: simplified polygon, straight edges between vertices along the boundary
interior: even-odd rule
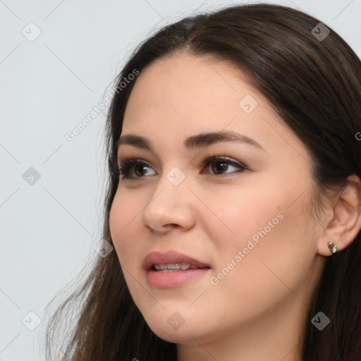
[[[301,140],[246,79],[226,61],[179,54],[158,59],[137,77],[122,135],[183,147],[191,135],[231,130],[274,152],[297,149],[307,159]]]

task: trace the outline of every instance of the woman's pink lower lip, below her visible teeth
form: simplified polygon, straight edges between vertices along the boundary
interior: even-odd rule
[[[161,272],[149,269],[147,271],[147,282],[156,288],[171,288],[181,286],[192,279],[198,279],[207,272],[209,268],[185,269],[184,271]]]

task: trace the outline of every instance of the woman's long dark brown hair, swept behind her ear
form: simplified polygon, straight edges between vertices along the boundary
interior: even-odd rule
[[[116,79],[118,91],[106,121],[109,187],[103,238],[113,244],[109,212],[119,180],[116,140],[136,79],[126,87],[121,82],[175,52],[231,61],[247,75],[310,151],[317,197],[334,185],[342,187],[353,173],[361,177],[360,142],[355,137],[361,130],[361,62],[330,27],[317,28],[319,23],[286,6],[228,6],[167,25],[142,42]],[[321,31],[325,35],[325,29],[329,34],[317,37]],[[302,360],[361,360],[360,265],[360,233],[345,250],[327,257],[302,325]],[[66,310],[73,312],[75,325],[61,343],[57,328],[65,325]],[[322,331],[311,323],[319,311],[331,320]],[[116,252],[98,257],[80,290],[56,310],[47,329],[47,357],[52,348],[61,354],[58,360],[177,358],[176,344],[156,336],[135,306]]]

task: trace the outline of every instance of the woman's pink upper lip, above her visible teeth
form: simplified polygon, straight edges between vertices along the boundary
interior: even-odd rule
[[[200,268],[209,267],[209,264],[198,261],[193,257],[183,255],[183,253],[177,251],[150,252],[145,256],[144,267],[147,271],[152,268],[153,264],[171,264],[171,263],[188,263],[191,266],[197,266]],[[210,268],[210,267],[209,267]]]

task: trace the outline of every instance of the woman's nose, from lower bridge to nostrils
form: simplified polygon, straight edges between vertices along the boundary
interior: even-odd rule
[[[164,173],[142,211],[142,224],[150,231],[166,233],[173,228],[188,230],[195,224],[196,197],[185,179],[175,185]]]

